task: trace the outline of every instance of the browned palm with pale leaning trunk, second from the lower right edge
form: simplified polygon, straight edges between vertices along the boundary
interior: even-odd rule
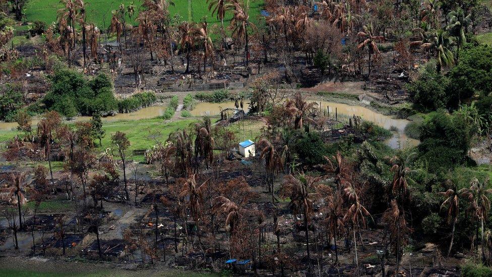
[[[460,214],[459,197],[464,195],[464,193],[466,192],[466,188],[458,190],[455,183],[451,180],[446,181],[446,184],[449,186],[448,190],[446,190],[445,192],[439,192],[438,194],[446,198],[441,204],[441,209],[446,206],[448,207],[448,211],[446,213],[448,224],[451,223],[451,221],[453,222],[453,227],[451,231],[451,242],[449,244],[447,255],[447,257],[449,257],[449,254],[451,253],[451,248],[453,247],[456,222],[458,221],[458,215]]]

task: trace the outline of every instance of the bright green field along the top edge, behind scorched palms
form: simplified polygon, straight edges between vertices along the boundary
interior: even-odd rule
[[[87,20],[95,22],[101,29],[104,29],[104,26],[107,28],[111,21],[111,11],[117,9],[121,4],[128,6],[132,2],[135,3],[138,12],[141,5],[140,0],[86,0]],[[179,14],[183,20],[194,22],[200,22],[206,18],[209,23],[220,24],[220,21],[212,17],[208,11],[207,0],[174,0],[174,4],[174,6],[169,6],[171,16]],[[262,6],[263,0],[250,0],[250,19],[253,23],[258,22]],[[59,0],[31,0],[25,10],[27,21],[40,20],[51,24],[56,21],[57,10],[61,7],[63,6]],[[229,22],[231,18],[232,14],[228,13],[224,23]],[[128,22],[132,23],[130,20]]]

